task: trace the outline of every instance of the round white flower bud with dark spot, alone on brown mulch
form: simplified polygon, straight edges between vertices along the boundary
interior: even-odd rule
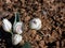
[[[41,28],[41,20],[39,18],[34,18],[29,23],[31,29],[39,30]]]

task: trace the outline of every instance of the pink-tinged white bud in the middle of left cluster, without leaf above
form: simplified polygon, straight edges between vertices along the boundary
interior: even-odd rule
[[[13,25],[13,31],[17,34],[22,34],[23,33],[23,22],[16,22],[15,25]]]

